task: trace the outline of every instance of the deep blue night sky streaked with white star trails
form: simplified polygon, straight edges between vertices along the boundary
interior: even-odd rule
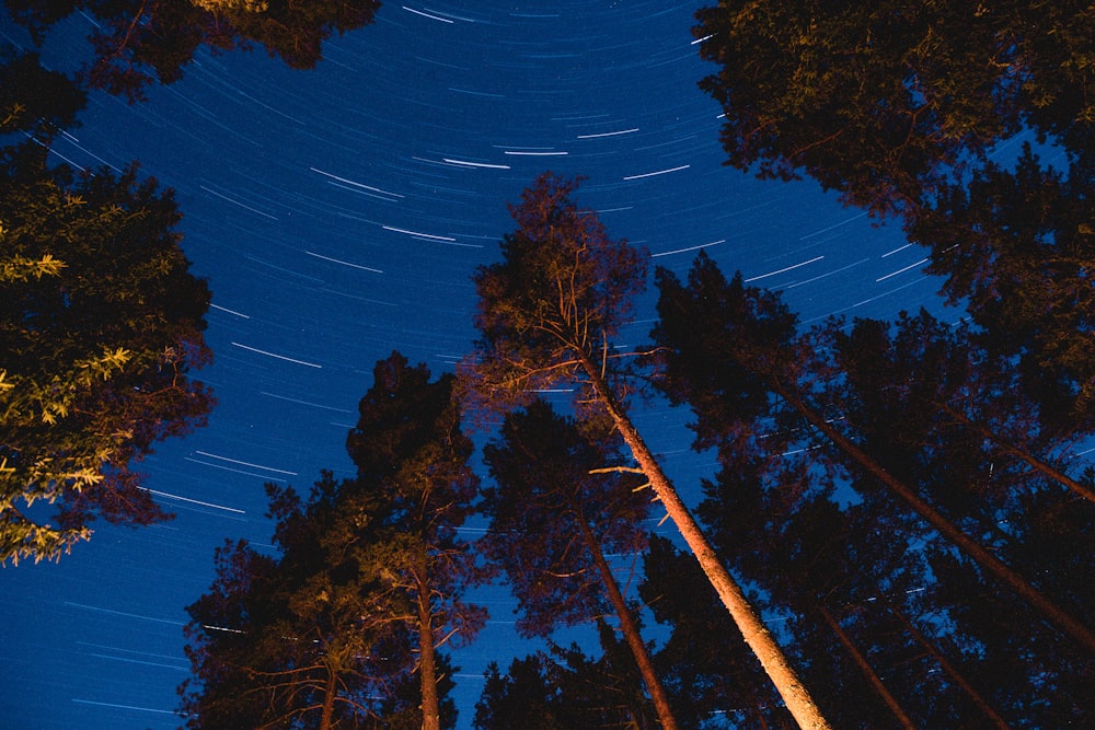
[[[705,248],[727,275],[783,291],[806,323],[937,308],[924,251],[896,225],[812,182],[723,164],[721,109],[696,88],[714,70],[691,35],[700,4],[388,2],[311,71],[262,50],[203,53],[147,102],[91,96],[55,152],[81,167],[139,160],[175,189],[183,247],[214,292],[216,361],[197,375],[219,406],[146,460],[175,520],[95,523],[59,564],[0,573],[0,726],[181,723],[184,606],[212,581],[214,548],[269,549],[265,482],[307,491],[321,468],[351,474],[344,441],[378,359],[399,349],[437,374],[469,350],[470,277],[497,259],[507,201],[544,170],[586,176],[578,202],[645,246],[652,271],[683,274]],[[2,39],[26,44],[0,22]],[[74,68],[89,22],[58,28],[45,62]],[[619,345],[645,341],[653,303],[647,292]],[[690,452],[688,414],[654,404],[636,420],[698,501],[714,460]],[[518,646],[506,587],[479,595],[491,623],[453,654],[461,728],[487,663],[505,670],[532,646]]]

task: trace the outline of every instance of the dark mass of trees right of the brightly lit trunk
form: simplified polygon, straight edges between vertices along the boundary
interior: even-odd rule
[[[802,332],[777,293],[704,255],[658,286],[657,382],[718,454],[700,515],[791,616],[827,716],[1058,723],[1095,647],[1073,553],[1095,515],[1082,428],[1042,427],[1022,363],[972,325],[920,312]],[[930,673],[945,679],[925,694]],[[873,699],[850,714],[853,694]]]

